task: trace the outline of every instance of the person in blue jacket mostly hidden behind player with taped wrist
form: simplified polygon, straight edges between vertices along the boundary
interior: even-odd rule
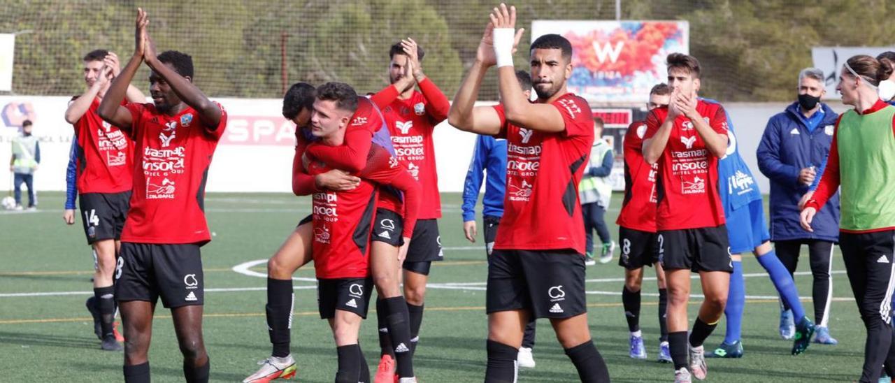
[[[532,78],[528,72],[516,71],[516,79],[526,98],[532,95]],[[507,140],[479,135],[475,140],[473,159],[466,171],[463,184],[463,233],[469,242],[475,243],[478,228],[475,224],[475,204],[482,190],[484,177],[485,196],[482,199],[482,225],[484,227],[485,252],[490,257],[494,239],[498,235],[500,217],[503,217],[504,194],[507,190]],[[533,368],[534,319],[525,326],[522,347],[519,348],[519,367]]]

